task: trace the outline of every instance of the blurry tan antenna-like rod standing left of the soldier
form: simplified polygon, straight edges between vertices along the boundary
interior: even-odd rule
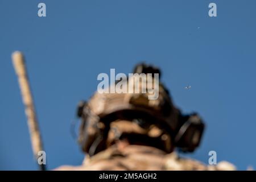
[[[32,150],[36,159],[38,159],[38,152],[43,151],[42,139],[36,118],[35,106],[32,98],[30,84],[28,81],[26,65],[24,56],[21,52],[16,51],[12,55],[13,65],[18,77],[20,91],[22,93],[23,104],[25,106],[25,113],[27,115],[28,128],[30,130],[30,138],[32,143]],[[38,162],[38,161],[36,161]],[[45,169],[44,165],[39,165],[41,169]]]

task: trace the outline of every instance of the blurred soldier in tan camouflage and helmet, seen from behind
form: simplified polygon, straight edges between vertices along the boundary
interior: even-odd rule
[[[140,74],[153,82],[160,70],[139,64],[127,87],[138,78],[139,90],[148,89]],[[147,81],[148,81],[147,80]],[[115,82],[115,85],[118,82]],[[99,93],[81,102],[77,115],[81,118],[79,143],[88,154],[81,166],[63,166],[57,170],[233,170],[222,162],[207,166],[192,159],[180,158],[174,149],[193,152],[200,144],[204,122],[198,114],[183,115],[171,100],[161,82],[159,96],[149,100],[150,93]],[[112,85],[112,86],[115,86]],[[143,88],[145,87],[146,88]],[[151,82],[152,86],[152,82]],[[107,88],[109,89],[109,88]],[[136,88],[134,88],[136,89]]]

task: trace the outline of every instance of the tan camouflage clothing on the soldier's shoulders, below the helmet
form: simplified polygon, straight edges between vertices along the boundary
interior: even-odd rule
[[[91,158],[86,156],[81,166],[62,166],[55,170],[233,171],[236,170],[236,167],[228,162],[206,165],[197,160],[179,158],[175,152],[166,154],[155,147],[129,145],[120,142]]]

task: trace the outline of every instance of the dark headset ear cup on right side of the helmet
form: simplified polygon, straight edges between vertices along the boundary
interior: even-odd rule
[[[180,127],[175,138],[175,146],[183,152],[193,152],[199,147],[204,131],[204,123],[197,114],[191,114]]]

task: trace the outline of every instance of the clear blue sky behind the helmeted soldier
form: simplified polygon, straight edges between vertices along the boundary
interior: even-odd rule
[[[37,15],[38,3],[47,17]],[[210,2],[217,17],[208,16]],[[256,1],[0,0],[0,169],[37,169],[11,53],[24,52],[47,164],[79,165],[69,127],[97,75],[162,68],[175,104],[207,123],[193,156],[256,167]],[[184,87],[191,85],[191,90]]]

